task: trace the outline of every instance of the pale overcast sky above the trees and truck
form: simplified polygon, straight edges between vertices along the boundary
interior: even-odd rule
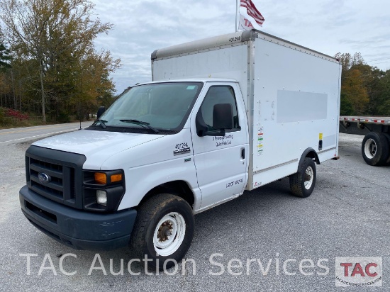
[[[235,31],[235,0],[91,0],[103,22],[96,48],[123,67],[111,75],[117,94],[151,80],[150,54],[162,47]],[[252,0],[262,30],[327,55],[360,52],[369,65],[390,69],[390,1]]]

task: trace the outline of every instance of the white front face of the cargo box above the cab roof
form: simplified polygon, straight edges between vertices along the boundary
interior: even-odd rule
[[[155,50],[152,53],[152,81],[205,77],[235,79],[246,94],[243,87],[248,78],[245,40],[243,33],[230,33]]]

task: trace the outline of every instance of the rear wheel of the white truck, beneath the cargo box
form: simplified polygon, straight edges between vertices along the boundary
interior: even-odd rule
[[[313,159],[306,157],[298,172],[290,176],[291,193],[301,198],[310,196],[316,186],[316,176],[316,163]]]

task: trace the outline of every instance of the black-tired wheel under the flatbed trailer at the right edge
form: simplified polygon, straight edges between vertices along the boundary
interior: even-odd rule
[[[389,158],[389,142],[383,133],[370,132],[362,141],[364,161],[374,167],[384,165]]]

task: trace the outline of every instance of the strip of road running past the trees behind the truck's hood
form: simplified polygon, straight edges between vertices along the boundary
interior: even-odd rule
[[[91,125],[91,121],[82,122],[82,128]],[[39,125],[26,128],[12,128],[0,130],[0,145],[13,144],[14,142],[28,141],[31,139],[43,138],[49,135],[77,130],[80,123],[65,123],[57,125]]]

